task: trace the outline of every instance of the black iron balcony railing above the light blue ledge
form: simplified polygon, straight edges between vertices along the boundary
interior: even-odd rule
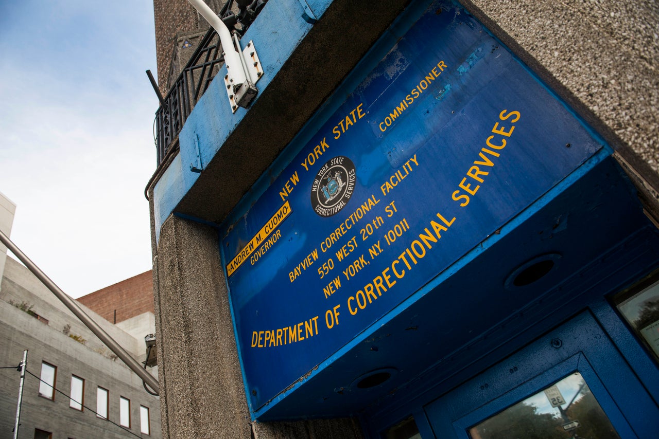
[[[222,20],[230,30],[235,30],[239,35],[243,35],[267,2],[268,0],[229,0],[225,3],[219,16],[223,17]],[[232,12],[234,3],[237,4],[237,14]],[[213,28],[210,28],[156,111],[154,136],[158,166],[165,159],[173,140],[181,132],[194,105],[202,97],[223,64],[224,57],[219,36]]]

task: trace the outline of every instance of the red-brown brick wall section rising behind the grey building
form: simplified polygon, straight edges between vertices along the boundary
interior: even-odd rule
[[[119,323],[142,313],[154,312],[154,286],[151,271],[122,280],[78,298],[110,323]]]

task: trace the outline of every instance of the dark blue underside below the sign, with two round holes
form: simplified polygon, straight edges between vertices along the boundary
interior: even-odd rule
[[[643,276],[658,263],[659,240],[630,189],[611,157],[598,153],[255,417],[362,413],[376,415],[373,422],[394,422],[415,409],[415,398],[420,404],[437,398],[589,306],[593,297],[601,300]],[[546,278],[504,287],[515,267],[557,251],[561,263]],[[515,341],[505,346],[508,340]],[[634,346],[626,353],[646,356]],[[654,367],[645,361],[646,369]],[[376,388],[355,387],[357,376],[382,367],[400,373]],[[381,412],[387,403],[393,414]]]

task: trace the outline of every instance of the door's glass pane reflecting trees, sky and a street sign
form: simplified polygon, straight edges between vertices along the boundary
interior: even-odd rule
[[[472,439],[619,439],[576,372],[469,429]]]

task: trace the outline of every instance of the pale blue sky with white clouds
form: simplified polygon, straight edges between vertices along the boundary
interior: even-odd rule
[[[11,240],[72,297],[152,267],[153,16],[146,0],[0,0]]]

